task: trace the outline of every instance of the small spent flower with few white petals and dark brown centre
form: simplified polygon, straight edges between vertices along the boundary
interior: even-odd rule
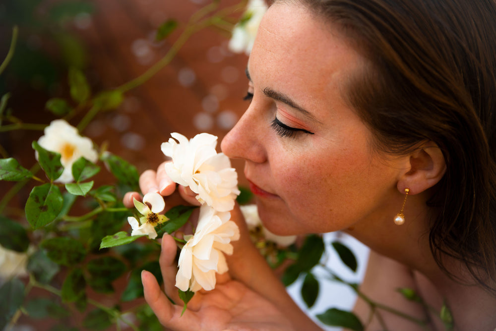
[[[151,208],[148,207],[147,203],[150,204]],[[134,217],[127,218],[127,222],[132,228],[131,236],[144,234],[148,235],[150,239],[155,239],[157,237],[155,226],[168,220],[165,215],[158,214],[165,208],[164,198],[158,193],[147,193],[143,197],[143,203],[134,199],[134,207],[143,216],[139,218],[139,222]]]

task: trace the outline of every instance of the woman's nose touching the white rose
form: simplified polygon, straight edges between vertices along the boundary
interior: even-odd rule
[[[221,150],[229,158],[263,163],[267,160],[264,135],[262,119],[257,115],[252,101],[238,123],[222,139]]]

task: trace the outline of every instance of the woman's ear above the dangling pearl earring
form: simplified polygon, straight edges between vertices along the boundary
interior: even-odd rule
[[[422,143],[405,161],[405,170],[398,180],[402,193],[407,187],[412,194],[423,192],[437,184],[446,171],[444,155],[432,141]]]

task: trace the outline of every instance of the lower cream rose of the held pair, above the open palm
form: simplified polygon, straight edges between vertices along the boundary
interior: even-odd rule
[[[231,255],[231,241],[240,238],[235,222],[229,221],[231,213],[219,213],[202,205],[196,231],[186,242],[179,256],[179,271],[176,287],[196,292],[215,287],[215,273],[228,271],[226,258],[222,253]]]

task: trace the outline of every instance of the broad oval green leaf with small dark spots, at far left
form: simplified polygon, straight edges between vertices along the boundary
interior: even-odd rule
[[[37,229],[54,221],[62,211],[62,206],[63,198],[59,188],[46,183],[33,187],[24,212],[29,224]]]

